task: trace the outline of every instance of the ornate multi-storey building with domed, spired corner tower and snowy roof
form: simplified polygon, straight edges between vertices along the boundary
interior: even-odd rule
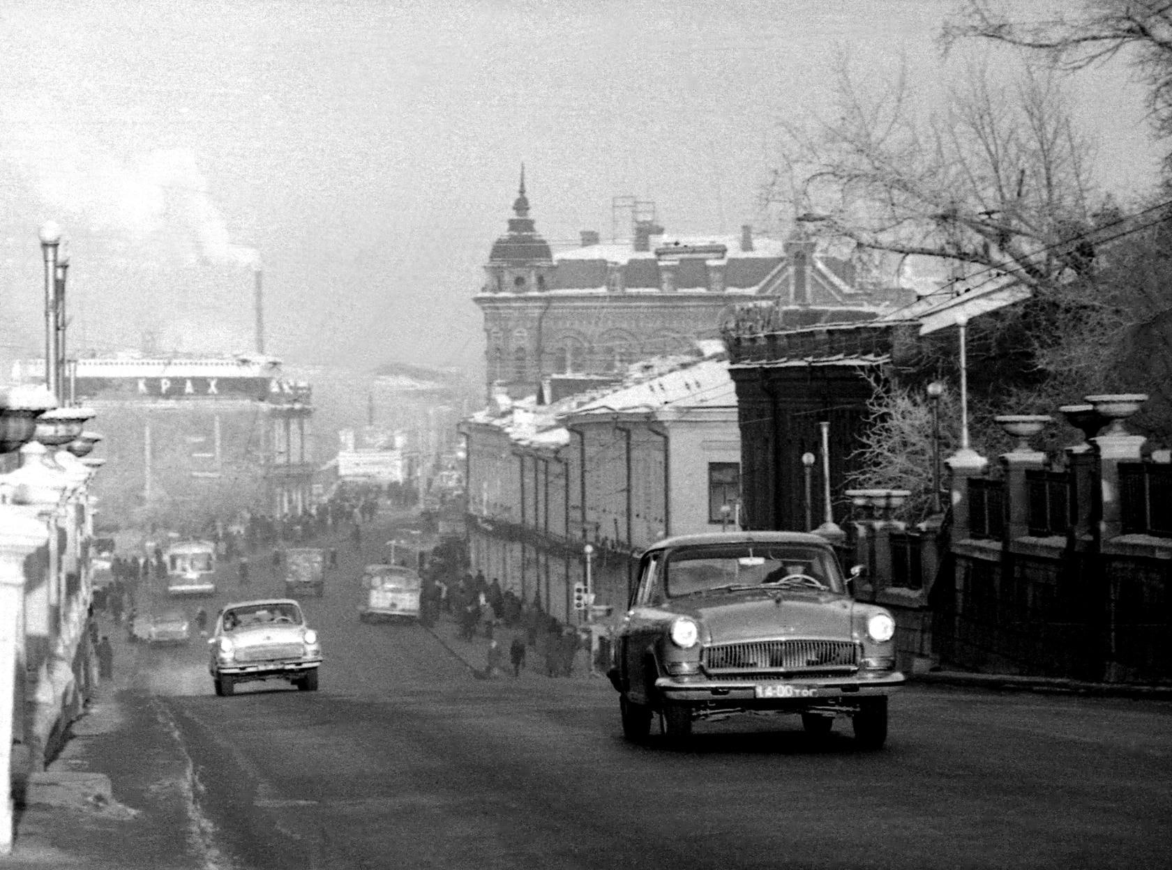
[[[638,359],[688,352],[718,338],[747,303],[769,308],[779,328],[872,320],[907,296],[863,259],[820,255],[800,233],[755,238],[750,226],[734,238],[680,238],[645,217],[631,242],[601,244],[586,231],[580,247],[554,253],[530,218],[524,174],[513,214],[475,296],[490,398],[532,396],[559,377],[613,379]]]

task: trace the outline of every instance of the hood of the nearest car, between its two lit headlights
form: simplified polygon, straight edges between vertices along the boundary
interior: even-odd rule
[[[697,619],[709,643],[851,637],[853,602],[827,592],[717,592],[682,604],[675,609]]]

